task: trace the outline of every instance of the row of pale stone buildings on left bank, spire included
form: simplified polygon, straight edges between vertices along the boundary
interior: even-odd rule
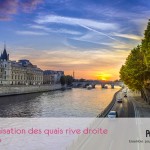
[[[59,84],[64,71],[41,70],[29,60],[9,60],[6,45],[0,56],[0,85]]]

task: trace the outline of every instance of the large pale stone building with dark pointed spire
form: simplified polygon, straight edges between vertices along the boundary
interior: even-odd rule
[[[0,56],[0,84],[40,85],[43,84],[43,71],[26,59],[10,61],[4,46]]]

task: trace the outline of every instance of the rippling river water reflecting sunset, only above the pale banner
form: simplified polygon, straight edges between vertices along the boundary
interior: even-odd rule
[[[0,117],[96,117],[118,89],[97,86],[0,97]]]

